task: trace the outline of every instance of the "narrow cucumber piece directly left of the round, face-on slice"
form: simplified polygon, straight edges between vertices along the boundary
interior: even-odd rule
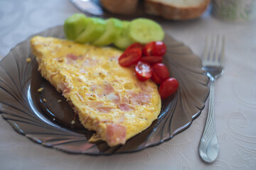
[[[125,49],[131,45],[134,41],[129,38],[129,21],[122,21],[122,32],[119,37],[114,41],[114,45],[120,49]]]

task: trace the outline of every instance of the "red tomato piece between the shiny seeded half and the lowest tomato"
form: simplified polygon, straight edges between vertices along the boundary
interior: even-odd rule
[[[163,63],[156,63],[152,65],[153,74],[152,80],[156,84],[161,84],[162,81],[169,78],[169,71]]]

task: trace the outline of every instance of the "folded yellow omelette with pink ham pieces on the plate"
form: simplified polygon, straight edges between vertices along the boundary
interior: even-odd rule
[[[121,67],[120,50],[41,36],[31,39],[31,50],[42,77],[63,94],[82,125],[95,131],[90,142],[123,145],[160,113],[156,84],[139,81],[134,67]]]

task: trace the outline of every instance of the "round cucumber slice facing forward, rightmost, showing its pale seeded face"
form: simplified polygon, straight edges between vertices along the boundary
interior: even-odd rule
[[[147,18],[137,18],[131,21],[129,36],[135,42],[146,44],[151,41],[164,39],[164,30],[159,23]]]

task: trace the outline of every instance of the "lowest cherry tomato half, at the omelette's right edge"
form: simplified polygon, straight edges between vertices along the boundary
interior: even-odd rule
[[[174,78],[166,79],[161,83],[159,86],[159,94],[161,96],[161,99],[165,99],[178,89],[178,81]]]

